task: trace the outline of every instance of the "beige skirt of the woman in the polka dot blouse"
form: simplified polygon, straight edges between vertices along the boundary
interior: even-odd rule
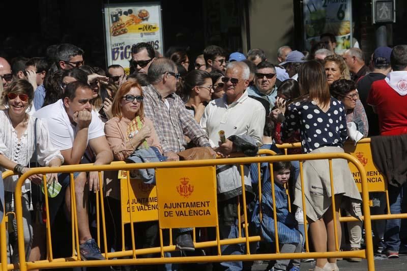
[[[344,153],[340,147],[321,147],[311,154]],[[345,159],[332,159],[334,194],[343,195],[342,206],[352,216],[360,218],[362,198]],[[308,160],[303,163],[305,207],[308,219],[316,221],[323,217],[332,204],[331,178],[328,160]],[[295,187],[294,205],[302,207],[301,174]],[[335,203],[336,204],[336,203]],[[358,207],[359,206],[359,207]]]

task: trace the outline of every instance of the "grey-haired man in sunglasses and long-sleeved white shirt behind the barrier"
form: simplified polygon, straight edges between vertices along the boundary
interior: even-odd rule
[[[232,135],[257,145],[261,144],[266,111],[260,102],[251,99],[245,92],[249,85],[249,67],[244,62],[231,62],[226,67],[224,83],[225,95],[211,101],[205,108],[200,126],[208,134],[211,146],[224,157],[236,152],[234,142],[226,139],[220,142],[219,131],[225,137]],[[245,166],[247,167],[247,166]],[[244,170],[246,196],[253,196],[248,167]],[[220,238],[239,237],[239,220],[237,202],[242,195],[241,175],[236,165],[217,167],[217,192]],[[233,210],[236,210],[234,212]],[[243,236],[242,232],[242,236]],[[222,255],[239,255],[245,253],[243,244],[224,245]],[[222,262],[222,270],[242,270],[241,261]]]

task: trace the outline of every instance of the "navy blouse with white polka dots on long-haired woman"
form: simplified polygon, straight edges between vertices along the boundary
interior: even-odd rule
[[[314,101],[301,101],[288,105],[286,116],[285,130],[301,131],[304,154],[324,146],[342,147],[347,139],[345,109],[333,97],[327,112]]]

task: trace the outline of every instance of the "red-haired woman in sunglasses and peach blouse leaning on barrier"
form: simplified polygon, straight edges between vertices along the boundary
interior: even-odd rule
[[[116,161],[126,160],[138,148],[155,147],[156,152],[162,154],[160,141],[154,125],[148,117],[144,116],[143,98],[141,86],[134,81],[123,83],[113,98],[113,117],[105,124],[105,134]],[[109,173],[112,173],[111,177]],[[117,227],[113,227],[118,232],[117,236],[121,236],[121,227],[119,226],[121,205],[119,196],[120,184],[117,179],[118,173],[114,174],[114,172],[105,171],[105,176],[113,179],[110,183],[106,182],[105,190],[110,191],[107,201],[113,211],[111,223],[115,225],[119,222]],[[138,228],[136,231],[149,232],[146,235],[136,234],[137,246],[139,242],[143,244],[138,247],[143,247],[144,245],[144,247],[154,247],[158,245],[156,243],[158,241],[158,224],[155,222],[137,224],[136,227],[143,227],[143,229]],[[118,240],[115,240],[115,242],[118,242]],[[117,246],[115,249],[120,249],[122,246],[118,243],[115,244]]]

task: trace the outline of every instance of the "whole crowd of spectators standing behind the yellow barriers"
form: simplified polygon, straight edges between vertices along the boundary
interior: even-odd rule
[[[210,45],[192,62],[184,49],[170,48],[163,57],[149,43],[132,46],[129,67],[110,65],[106,70],[85,65],[83,50],[72,44],[52,45],[43,57],[0,57],[0,167],[21,175],[37,165],[178,161],[177,153],[193,147],[203,147],[200,150],[206,149],[212,157],[227,158],[238,150],[236,138],[277,153],[275,144],[286,142],[301,142],[301,148],[288,154],[343,153],[347,140],[356,144],[361,138],[377,136],[372,139],[379,157],[375,163],[380,164],[376,161],[382,155],[387,158],[379,166],[389,183],[391,212],[400,213],[406,191],[399,158],[404,157],[407,137],[407,45],[376,48],[369,66],[359,48],[338,55],[335,45],[332,34],[322,35],[310,52],[285,45],[277,51],[278,64],[268,61],[259,48],[247,55],[228,54]],[[130,74],[125,74],[125,68],[130,68]],[[225,138],[220,137],[220,131]],[[395,162],[389,164],[392,157]],[[252,244],[251,253],[275,248],[274,205],[280,252],[304,252],[306,232],[315,252],[335,251],[335,235],[344,250],[360,250],[361,221],[348,222],[341,229],[337,219],[337,232],[334,230],[333,214],[337,218],[340,212],[361,217],[361,196],[347,162],[334,159],[332,163],[334,195],[325,160],[303,163],[304,187],[299,161],[273,163],[272,174],[268,163],[261,164],[260,171],[257,165],[245,165],[243,173],[236,165],[218,166],[220,238],[240,236],[237,206],[245,189],[249,232],[262,237],[261,242]],[[134,174],[147,184],[156,182],[154,170]],[[100,187],[98,172],[74,173],[78,253],[84,260],[104,259],[94,239],[90,208],[94,193],[101,189],[110,210],[107,229],[115,233],[108,234],[109,251],[131,247],[131,240],[122,244],[120,237],[118,174],[104,172],[102,177]],[[276,202],[271,196],[271,178]],[[0,200],[6,212],[15,209],[17,179],[14,175],[0,182]],[[46,257],[43,190],[49,194],[51,227],[58,214],[70,213],[72,204],[68,173],[47,174],[47,184],[41,185],[42,180],[42,174],[36,174],[22,185],[24,248],[29,261]],[[263,184],[261,202],[259,181]],[[292,202],[288,202],[286,186]],[[371,197],[372,212],[384,214],[382,194]],[[304,227],[304,219],[309,228]],[[18,262],[15,219],[10,217],[10,222],[14,230],[8,234],[8,258]],[[376,249],[388,258],[398,257],[407,246],[400,225],[400,219],[373,225]],[[135,230],[142,232],[137,234],[138,248],[159,246],[157,222],[137,223]],[[197,240],[211,238],[211,234],[197,232]],[[186,255],[195,250],[191,228],[173,229],[173,236],[178,250]],[[246,248],[245,244],[223,245],[221,252],[239,255],[245,254]],[[315,270],[339,270],[336,261],[316,259]],[[277,260],[270,268],[296,271],[300,264],[299,260]],[[214,269],[244,270],[249,265],[221,262]]]

